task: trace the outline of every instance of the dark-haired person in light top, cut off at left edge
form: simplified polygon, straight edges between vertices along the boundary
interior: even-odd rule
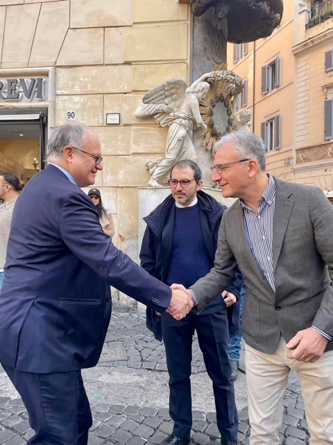
[[[12,173],[1,173],[0,199],[3,204],[0,204],[0,289],[3,283],[3,267],[6,261],[12,211],[23,187],[19,179]]]

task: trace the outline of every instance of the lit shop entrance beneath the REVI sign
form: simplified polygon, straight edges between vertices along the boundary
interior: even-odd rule
[[[47,110],[0,110],[0,173],[26,184],[45,168]]]

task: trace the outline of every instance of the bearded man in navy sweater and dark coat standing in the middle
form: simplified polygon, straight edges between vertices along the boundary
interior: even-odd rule
[[[219,225],[227,209],[200,188],[201,170],[194,161],[179,161],[171,170],[169,195],[149,216],[140,252],[141,265],[166,284],[189,286],[214,265]],[[229,334],[238,332],[239,312],[234,311],[243,277],[216,298],[199,315],[176,321],[147,308],[146,324],[164,341],[169,372],[169,413],[173,431],[160,445],[191,442],[191,359],[196,331],[207,373],[212,379],[216,423],[221,445],[237,445],[238,416],[228,357]],[[238,309],[238,308],[237,308]],[[167,315],[167,316],[166,316]],[[234,316],[235,315],[235,316]]]

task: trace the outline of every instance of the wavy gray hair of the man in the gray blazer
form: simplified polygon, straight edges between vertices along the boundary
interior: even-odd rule
[[[232,144],[241,159],[256,159],[259,169],[266,171],[266,149],[264,141],[251,131],[234,131],[223,136],[216,143],[216,151],[224,145]]]

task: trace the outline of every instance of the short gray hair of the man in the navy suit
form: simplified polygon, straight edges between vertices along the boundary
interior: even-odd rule
[[[62,125],[54,130],[46,147],[47,158],[61,156],[62,149],[67,145],[80,148],[84,143],[87,129],[85,125]]]

